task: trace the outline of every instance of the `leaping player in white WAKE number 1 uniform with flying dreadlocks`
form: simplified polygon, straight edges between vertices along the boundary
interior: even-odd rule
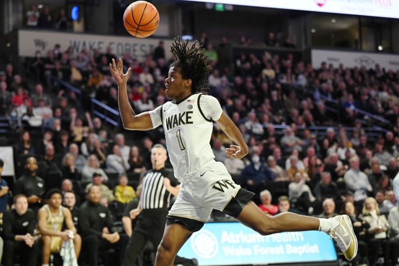
[[[180,37],[174,40],[172,63],[165,86],[170,102],[150,112],[136,115],[129,104],[126,83],[131,68],[123,73],[119,59],[110,64],[118,84],[118,102],[123,126],[130,130],[164,127],[169,157],[180,193],[167,216],[167,227],[158,247],[156,266],[172,266],[175,256],[193,232],[209,219],[212,209],[220,210],[261,235],[278,232],[319,230],[329,234],[352,260],[358,243],[348,216],[319,219],[282,213],[266,216],[253,202],[253,193],[235,184],[223,164],[215,162],[209,145],[213,121],[237,145],[226,149],[229,158],[241,159],[248,153],[242,135],[212,96],[201,94],[211,67],[206,64],[202,47],[188,45]]]

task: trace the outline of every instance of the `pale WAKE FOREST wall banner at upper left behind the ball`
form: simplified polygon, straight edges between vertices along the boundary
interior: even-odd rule
[[[170,39],[21,29],[18,31],[18,53],[19,56],[34,57],[36,51],[39,50],[42,57],[47,57],[47,52],[53,49],[57,43],[61,45],[62,52],[69,46],[72,47],[74,55],[79,54],[82,50],[87,50],[91,53],[93,49],[98,49],[100,52],[105,53],[107,47],[110,46],[112,53],[118,58],[122,58],[125,53],[130,53],[132,58],[141,61],[146,58],[147,54],[153,52],[160,40],[165,42],[165,47],[170,47],[172,44]],[[167,58],[172,57],[172,53],[168,48],[165,48],[165,55]]]

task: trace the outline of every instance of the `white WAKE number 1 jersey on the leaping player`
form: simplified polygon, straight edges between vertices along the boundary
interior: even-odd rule
[[[207,108],[211,110],[205,110],[206,106],[211,106]],[[190,180],[201,166],[214,158],[209,144],[212,119],[218,120],[221,113],[214,97],[200,93],[178,104],[167,102],[150,112],[154,128],[162,121],[169,158],[180,182]]]

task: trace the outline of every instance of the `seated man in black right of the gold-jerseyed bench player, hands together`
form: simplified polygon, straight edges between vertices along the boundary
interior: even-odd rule
[[[83,235],[83,246],[87,247],[88,262],[90,266],[98,266],[98,252],[115,248],[119,265],[122,265],[128,237],[118,234],[110,211],[99,203],[100,198],[100,188],[96,185],[90,187],[88,200],[82,204],[79,212],[79,232]],[[118,265],[116,262],[114,264]]]

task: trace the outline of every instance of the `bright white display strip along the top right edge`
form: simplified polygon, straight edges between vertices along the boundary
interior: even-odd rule
[[[187,0],[186,0],[187,1]],[[399,18],[399,0],[188,0]]]

